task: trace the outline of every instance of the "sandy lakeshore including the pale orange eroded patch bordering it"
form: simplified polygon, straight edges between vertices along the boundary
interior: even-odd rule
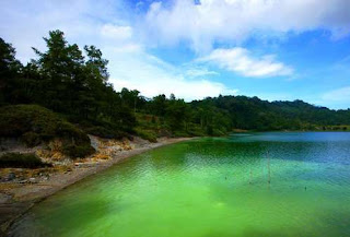
[[[102,141],[95,137],[92,137],[91,140],[97,150],[96,154],[72,163],[65,173],[49,174],[49,177],[44,178],[32,178],[26,182],[0,182],[0,236],[4,235],[8,227],[19,216],[55,192],[128,157],[163,145],[186,141],[189,138],[161,138],[156,143],[135,138],[135,141],[127,142],[124,146],[113,141]]]

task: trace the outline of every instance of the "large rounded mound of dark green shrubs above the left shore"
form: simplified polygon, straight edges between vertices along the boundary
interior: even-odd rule
[[[28,146],[59,138],[69,147],[66,154],[73,155],[75,149],[80,157],[91,154],[92,151],[90,139],[83,131],[38,105],[1,107],[0,137],[19,138]]]

